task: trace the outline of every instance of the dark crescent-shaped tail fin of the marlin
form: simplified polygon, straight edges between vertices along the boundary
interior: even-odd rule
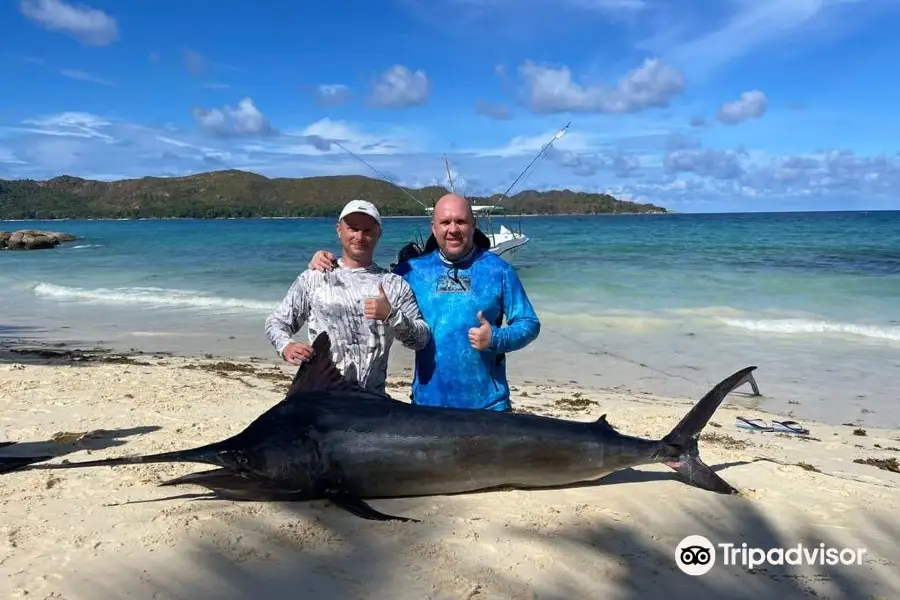
[[[700,432],[709,423],[725,397],[743,384],[755,369],[756,367],[745,367],[723,379],[663,438],[663,443],[670,445],[677,452],[677,457],[667,460],[665,464],[677,471],[689,485],[719,494],[738,493],[731,484],[703,462],[700,458],[698,440]]]

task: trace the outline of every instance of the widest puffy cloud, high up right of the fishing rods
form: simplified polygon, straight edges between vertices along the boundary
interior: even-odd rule
[[[633,113],[668,106],[685,89],[681,73],[658,59],[644,60],[615,87],[582,85],[573,80],[568,67],[530,61],[519,67],[519,74],[525,82],[526,102],[537,113]]]

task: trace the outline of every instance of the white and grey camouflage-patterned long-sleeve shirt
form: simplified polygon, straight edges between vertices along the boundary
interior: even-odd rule
[[[329,273],[303,271],[293,281],[266,319],[266,337],[281,356],[304,324],[310,344],[327,331],[332,358],[344,377],[383,394],[393,340],[419,350],[428,343],[431,330],[403,278],[375,264],[355,269],[338,264]],[[377,297],[379,283],[391,304],[384,322],[365,317],[365,301]]]

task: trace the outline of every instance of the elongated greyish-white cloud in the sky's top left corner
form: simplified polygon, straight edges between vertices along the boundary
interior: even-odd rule
[[[65,33],[83,44],[108,46],[119,37],[116,20],[89,6],[62,0],[21,0],[19,10],[44,28]]]

